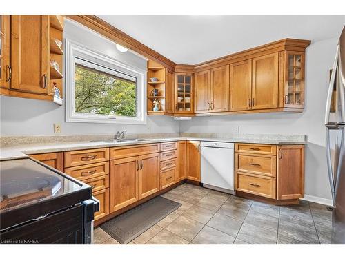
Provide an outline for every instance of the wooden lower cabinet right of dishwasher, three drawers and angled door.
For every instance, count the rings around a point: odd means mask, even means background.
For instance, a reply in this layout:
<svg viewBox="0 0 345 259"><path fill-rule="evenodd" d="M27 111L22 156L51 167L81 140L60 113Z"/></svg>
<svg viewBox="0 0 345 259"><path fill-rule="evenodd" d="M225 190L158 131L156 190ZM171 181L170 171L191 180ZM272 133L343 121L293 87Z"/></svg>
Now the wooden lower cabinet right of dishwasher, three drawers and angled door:
<svg viewBox="0 0 345 259"><path fill-rule="evenodd" d="M235 189L295 204L304 198L304 145L235 144Z"/></svg>

